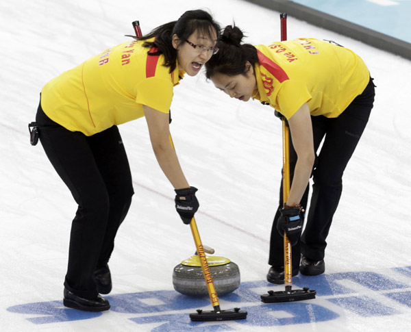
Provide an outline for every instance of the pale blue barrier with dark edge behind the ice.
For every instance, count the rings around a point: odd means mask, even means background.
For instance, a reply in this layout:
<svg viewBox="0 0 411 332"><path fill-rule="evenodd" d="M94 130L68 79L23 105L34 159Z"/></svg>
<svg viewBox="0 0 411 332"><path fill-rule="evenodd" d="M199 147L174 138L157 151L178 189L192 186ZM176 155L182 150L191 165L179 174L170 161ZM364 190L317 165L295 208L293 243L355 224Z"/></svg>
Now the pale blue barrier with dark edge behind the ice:
<svg viewBox="0 0 411 332"><path fill-rule="evenodd" d="M246 0L411 60L411 0Z"/></svg>

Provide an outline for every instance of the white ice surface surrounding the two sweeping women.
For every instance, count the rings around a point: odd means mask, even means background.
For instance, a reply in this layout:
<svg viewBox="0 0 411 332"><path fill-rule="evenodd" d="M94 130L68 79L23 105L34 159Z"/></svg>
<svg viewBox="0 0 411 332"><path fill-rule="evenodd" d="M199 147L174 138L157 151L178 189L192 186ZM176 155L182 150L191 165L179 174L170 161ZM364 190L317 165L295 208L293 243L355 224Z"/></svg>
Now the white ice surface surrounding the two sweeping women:
<svg viewBox="0 0 411 332"><path fill-rule="evenodd" d="M147 32L197 8L210 9L222 25L235 21L252 44L279 40L278 13L239 0L1 1L1 331L408 331L411 62L292 17L289 39L336 40L362 56L377 85L369 125L345 172L327 240L326 274L293 279L319 296L277 307L259 302L258 292L282 289L264 281L278 201L281 125L270 107L229 99L200 74L175 88L171 131L184 173L199 188L203 243L240 266L240 302L233 294L221 299L221 307L248 307L247 322L189 322L188 313L197 306L210 309L210 302L190 307L193 300L173 290L173 268L195 246L175 212L173 188L155 161L144 119L120 127L136 194L110 261L113 309L88 316L62 309L76 206L40 144L29 144L27 123L34 120L40 89L127 40L132 21ZM139 296L151 314L139 311ZM159 303L168 305L156 311ZM164 314L181 316L164 325Z"/></svg>

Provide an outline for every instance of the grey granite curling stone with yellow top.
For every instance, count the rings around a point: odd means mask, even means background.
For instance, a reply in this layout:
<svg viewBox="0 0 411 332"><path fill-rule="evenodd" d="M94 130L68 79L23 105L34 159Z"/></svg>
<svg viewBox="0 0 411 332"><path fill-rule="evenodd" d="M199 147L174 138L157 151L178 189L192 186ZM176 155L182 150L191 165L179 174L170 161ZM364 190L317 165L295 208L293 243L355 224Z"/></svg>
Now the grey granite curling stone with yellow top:
<svg viewBox="0 0 411 332"><path fill-rule="evenodd" d="M206 256L217 294L233 292L240 285L240 270L234 261L219 256ZM208 294L206 280L197 253L182 261L173 270L174 289L185 295Z"/></svg>

